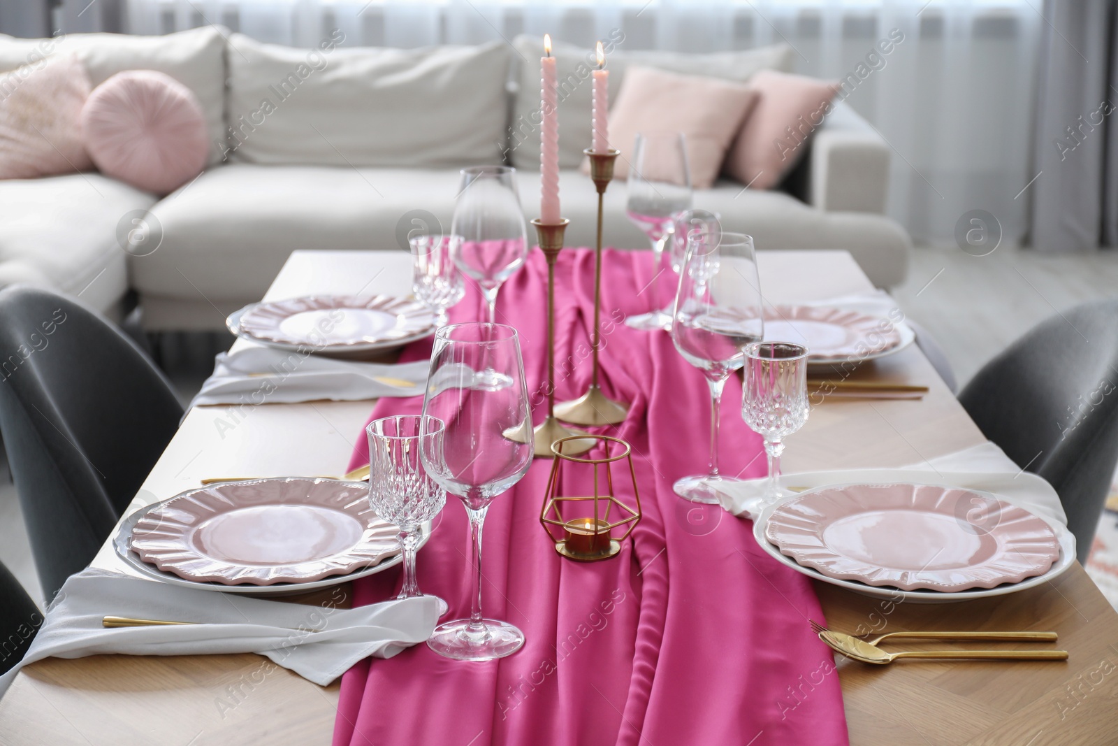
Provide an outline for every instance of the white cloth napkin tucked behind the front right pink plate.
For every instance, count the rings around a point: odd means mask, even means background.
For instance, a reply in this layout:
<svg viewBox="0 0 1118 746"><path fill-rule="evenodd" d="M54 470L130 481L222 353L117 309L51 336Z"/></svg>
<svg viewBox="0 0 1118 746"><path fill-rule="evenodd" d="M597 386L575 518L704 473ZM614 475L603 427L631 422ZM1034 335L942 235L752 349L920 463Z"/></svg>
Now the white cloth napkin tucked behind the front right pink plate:
<svg viewBox="0 0 1118 746"><path fill-rule="evenodd" d="M1038 516L1068 525L1055 489L1041 476L1022 471L1002 448L988 441L901 469L849 469L780 475L784 488L814 489L858 482L915 482L984 490ZM730 482L720 488L719 500L722 508L735 516L752 518L750 504L764 489L764 479Z"/></svg>

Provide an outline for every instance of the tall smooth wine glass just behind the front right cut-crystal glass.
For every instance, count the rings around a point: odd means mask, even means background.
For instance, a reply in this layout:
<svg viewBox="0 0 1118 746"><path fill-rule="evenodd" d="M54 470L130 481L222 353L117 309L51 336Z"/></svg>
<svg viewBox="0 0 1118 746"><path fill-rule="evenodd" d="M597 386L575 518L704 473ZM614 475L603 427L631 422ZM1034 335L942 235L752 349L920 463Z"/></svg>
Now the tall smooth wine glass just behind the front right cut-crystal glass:
<svg viewBox="0 0 1118 746"><path fill-rule="evenodd" d="M707 474L684 476L675 494L692 502L718 502L727 480L718 471L719 409L730 374L745 363L745 348L765 336L754 239L721 233L718 223L692 228L672 312L672 342L702 370L710 387L710 462Z"/></svg>

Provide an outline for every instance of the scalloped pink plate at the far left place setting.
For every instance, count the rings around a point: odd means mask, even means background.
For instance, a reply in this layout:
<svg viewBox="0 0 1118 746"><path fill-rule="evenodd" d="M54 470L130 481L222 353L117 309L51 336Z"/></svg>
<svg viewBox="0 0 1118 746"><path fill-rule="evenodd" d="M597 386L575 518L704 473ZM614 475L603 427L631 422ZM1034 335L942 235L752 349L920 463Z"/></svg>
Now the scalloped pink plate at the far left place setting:
<svg viewBox="0 0 1118 746"><path fill-rule="evenodd" d="M389 295L309 295L257 303L240 315L239 330L256 339L325 349L401 344L434 331L423 303Z"/></svg>

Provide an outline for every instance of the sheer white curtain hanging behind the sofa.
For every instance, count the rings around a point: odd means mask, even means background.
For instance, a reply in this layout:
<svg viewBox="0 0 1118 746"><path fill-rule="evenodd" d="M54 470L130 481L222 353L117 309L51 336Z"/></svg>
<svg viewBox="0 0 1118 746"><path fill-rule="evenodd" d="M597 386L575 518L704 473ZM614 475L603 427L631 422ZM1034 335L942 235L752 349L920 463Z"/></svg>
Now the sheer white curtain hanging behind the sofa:
<svg viewBox="0 0 1118 746"><path fill-rule="evenodd" d="M264 41L417 47L541 35L623 49L718 51L787 43L797 72L843 96L893 151L889 213L917 240L953 240L973 209L1003 240L1027 224L1043 19L1030 0L126 0L133 34L222 23ZM1040 0L1032 0L1039 3ZM900 40L898 40L900 39ZM879 43L892 40L889 54ZM885 46L889 46L888 44Z"/></svg>

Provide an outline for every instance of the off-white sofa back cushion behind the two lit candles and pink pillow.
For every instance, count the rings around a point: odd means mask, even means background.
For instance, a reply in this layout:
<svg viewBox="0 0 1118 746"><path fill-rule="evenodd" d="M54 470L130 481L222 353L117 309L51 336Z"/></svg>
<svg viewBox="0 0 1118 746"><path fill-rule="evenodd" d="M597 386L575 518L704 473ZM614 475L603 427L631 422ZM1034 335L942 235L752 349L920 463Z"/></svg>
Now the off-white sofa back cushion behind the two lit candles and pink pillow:
<svg viewBox="0 0 1118 746"><path fill-rule="evenodd" d="M512 112L509 149L512 164L518 169L540 169L540 57L543 39L518 36L513 47L520 63L519 86ZM594 50L563 43L552 43L552 56L559 79L559 166L578 168L582 151L590 147L591 96L590 70L594 69ZM792 72L793 50L786 44L758 47L746 51L719 51L708 55L680 51L607 49L609 70L609 100L617 100L628 65L655 67L683 75L705 75L726 81L743 82L761 69ZM522 62L521 57L527 60Z"/></svg>

